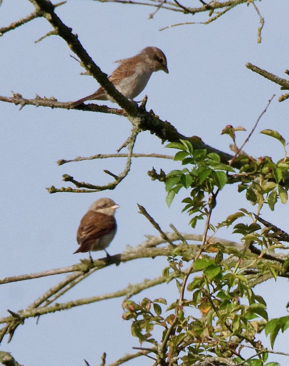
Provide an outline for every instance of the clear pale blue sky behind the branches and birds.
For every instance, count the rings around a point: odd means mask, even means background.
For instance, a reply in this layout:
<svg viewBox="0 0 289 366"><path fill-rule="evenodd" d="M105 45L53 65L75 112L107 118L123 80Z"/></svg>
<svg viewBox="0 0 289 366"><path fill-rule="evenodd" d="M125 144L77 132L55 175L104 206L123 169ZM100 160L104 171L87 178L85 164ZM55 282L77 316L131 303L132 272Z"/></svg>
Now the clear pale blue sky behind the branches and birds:
<svg viewBox="0 0 289 366"><path fill-rule="evenodd" d="M191 6L197 7L194 0ZM245 151L254 157L282 158L281 145L258 132L264 128L277 130L288 141L288 101L278 102L282 94L274 83L252 73L245 67L251 62L280 77L288 68L288 4L286 0L263 0L258 8L265 18L262 42L257 44L259 17L254 8L240 5L210 25L186 25L164 31L159 28L179 22L192 21L189 15L161 10L148 19L154 9L135 5L102 4L97 1L68 1L57 8L57 15L78 34L86 51L110 74L115 60L130 57L146 46L157 46L166 55L169 74L154 73L140 100L148 95L147 109L168 120L186 135L197 135L208 145L229 152L230 139L220 135L227 125L243 126L247 131L265 108L273 94L276 97L262 117ZM33 10L29 1L4 1L0 7L0 26L8 25ZM194 21L206 17L199 14ZM25 98L54 96L59 101L73 101L93 93L98 85L93 78L79 75L79 64L73 60L65 42L50 36L34 44L50 31L45 19L36 19L0 37L0 94L10 96L11 90ZM113 104L109 104L113 106ZM115 105L114 105L115 106ZM57 166L57 160L97 153L115 153L131 129L130 123L113 115L66 111L26 106L21 111L13 104L1 102L1 277L38 272L75 264L83 254L72 255L77 249L75 235L79 221L91 202L110 197L120 208L116 212L118 231L110 244L109 253L123 251L127 244L135 246L144 235L157 235L149 222L138 214L139 203L147 209L164 231L173 223L182 232L202 232L202 225L192 230L189 218L181 214L180 193L170 209L165 203L164 186L152 182L147 171L154 167L165 172L172 170L171 161L137 159L127 178L109 192L90 194L48 194L46 187L65 186L61 181L67 173L76 180L105 184L110 178L108 169L117 174L124 160L92 160ZM241 143L246 132L238 134ZM172 153L149 132L139 135L135 152ZM222 192L213 213L213 223L221 222L241 207L253 209L242 195L236 197L236 187ZM272 214L265 209L263 217L284 230L288 227L288 205L278 204ZM222 238L238 241L230 231L218 233ZM94 253L101 258L103 253ZM128 283L154 278L161 274L165 258L142 259L136 263L110 266L94 273L61 299L102 294L124 288ZM1 317L7 309L25 308L42 292L64 276L47 277L0 287ZM269 316L286 315L288 281L278 278L259 285L256 292L267 301ZM151 292L135 296L168 297L173 284L159 286ZM177 296L176 292L172 297ZM286 294L286 295L285 295ZM278 299L278 301L277 301ZM100 363L102 352L107 362L124 353L131 353L138 340L130 333L130 323L121 320L121 300L115 299L82 306L70 311L45 315L35 325L29 319L19 326L10 344L1 350L9 351L24 365L90 365ZM287 331L288 338L288 331ZM283 340L284 342L284 340ZM276 342L276 350L286 351L286 343ZM279 356L282 365L285 358ZM137 365L150 365L149 359L138 359Z"/></svg>

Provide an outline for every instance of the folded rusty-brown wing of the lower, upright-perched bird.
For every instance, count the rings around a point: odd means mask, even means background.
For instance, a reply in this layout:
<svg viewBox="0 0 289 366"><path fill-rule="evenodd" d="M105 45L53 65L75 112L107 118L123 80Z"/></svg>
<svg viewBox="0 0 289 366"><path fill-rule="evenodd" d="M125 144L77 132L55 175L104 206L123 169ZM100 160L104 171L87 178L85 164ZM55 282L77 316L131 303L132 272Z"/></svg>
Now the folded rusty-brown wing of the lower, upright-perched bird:
<svg viewBox="0 0 289 366"><path fill-rule="evenodd" d="M88 211L80 221L76 240L80 247L75 253L91 250L95 240L116 229L115 217L100 212Z"/></svg>

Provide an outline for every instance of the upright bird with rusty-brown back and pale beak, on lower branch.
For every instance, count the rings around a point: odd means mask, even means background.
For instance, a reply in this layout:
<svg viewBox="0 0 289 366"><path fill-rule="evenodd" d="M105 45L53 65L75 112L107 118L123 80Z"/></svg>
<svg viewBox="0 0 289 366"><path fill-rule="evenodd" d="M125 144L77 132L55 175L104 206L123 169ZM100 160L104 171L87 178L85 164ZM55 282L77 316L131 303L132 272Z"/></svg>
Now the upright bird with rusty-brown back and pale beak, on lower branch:
<svg viewBox="0 0 289 366"><path fill-rule="evenodd" d="M110 257L105 250L116 234L115 210L120 206L110 198L100 198L93 202L86 214L80 220L76 234L79 248L73 253L104 250L107 257Z"/></svg>

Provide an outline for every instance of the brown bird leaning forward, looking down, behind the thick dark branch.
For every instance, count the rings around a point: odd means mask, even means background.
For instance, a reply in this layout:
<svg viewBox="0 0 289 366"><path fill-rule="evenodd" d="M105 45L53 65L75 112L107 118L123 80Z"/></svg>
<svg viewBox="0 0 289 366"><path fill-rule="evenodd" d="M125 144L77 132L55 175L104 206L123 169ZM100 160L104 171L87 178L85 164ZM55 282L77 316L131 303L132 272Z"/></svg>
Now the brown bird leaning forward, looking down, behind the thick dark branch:
<svg viewBox="0 0 289 366"><path fill-rule="evenodd" d="M115 62L120 63L120 65L108 79L121 94L131 100L145 89L153 72L163 70L166 74L169 73L166 56L157 47L146 47L129 59ZM72 102L72 105L75 107L87 100L110 100L115 102L100 86L95 93Z"/></svg>

